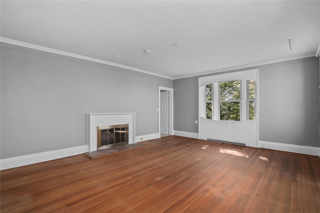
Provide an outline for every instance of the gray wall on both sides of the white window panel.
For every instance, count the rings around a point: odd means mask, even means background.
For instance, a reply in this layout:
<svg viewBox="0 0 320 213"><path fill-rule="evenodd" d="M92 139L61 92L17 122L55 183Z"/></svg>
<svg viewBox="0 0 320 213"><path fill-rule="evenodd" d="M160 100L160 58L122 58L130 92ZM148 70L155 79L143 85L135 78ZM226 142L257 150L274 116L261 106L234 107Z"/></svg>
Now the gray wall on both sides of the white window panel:
<svg viewBox="0 0 320 213"><path fill-rule="evenodd" d="M319 58L232 71L255 68L259 69L259 140L318 147ZM203 76L173 81L174 130L198 132L194 118L198 116L198 77Z"/></svg>

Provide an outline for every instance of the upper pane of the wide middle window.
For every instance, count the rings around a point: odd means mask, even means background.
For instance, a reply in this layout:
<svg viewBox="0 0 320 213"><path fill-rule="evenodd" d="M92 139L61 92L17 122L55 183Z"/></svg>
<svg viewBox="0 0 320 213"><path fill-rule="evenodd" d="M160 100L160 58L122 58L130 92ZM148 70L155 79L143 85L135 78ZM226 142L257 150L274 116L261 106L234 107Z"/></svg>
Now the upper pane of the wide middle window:
<svg viewBox="0 0 320 213"><path fill-rule="evenodd" d="M220 84L220 100L239 100L240 81L225 81Z"/></svg>

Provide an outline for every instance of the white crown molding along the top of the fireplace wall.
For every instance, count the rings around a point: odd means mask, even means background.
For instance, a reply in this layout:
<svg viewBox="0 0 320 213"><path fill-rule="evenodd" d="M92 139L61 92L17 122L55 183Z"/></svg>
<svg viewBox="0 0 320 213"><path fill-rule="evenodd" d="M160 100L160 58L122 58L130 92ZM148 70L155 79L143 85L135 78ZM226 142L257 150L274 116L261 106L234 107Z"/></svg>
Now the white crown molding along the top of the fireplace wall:
<svg viewBox="0 0 320 213"><path fill-rule="evenodd" d="M74 53L70 53L70 52L65 52L65 51L61 51L61 50L57 50L57 49L52 49L52 48L48 48L48 47L44 47L44 46L35 45L35 44L30 44L30 43L26 43L26 42L22 42L22 41L12 40L12 39L9 39L9 38L0 37L0 41L3 42L3 43L13 44L13 45L17 45L17 46L27 47L27 48L30 48L30 49L36 49L36 50L55 53L55 54L59 54L59 55L65 55L65 56L69 56L69 57L73 57L73 58L79 58L79 59L88 60L88 61L93 61L93 62L97 62L97 63L101 63L101 64L107 64L107 65L110 65L110 66L120 67L120 68L124 68L124 69L133 70L133 71L136 71L136 72L142 72L142 73L146 73L146 74L149 74L149 75L155 75L155 76L158 76L158 77L162 77L162 78L167 78L167 79L173 80L172 77L161 75L161 74L157 74L157 73L153 73L153 72L149 72L149 71L146 71L146 70L143 70L143 69L138 69L138 68L134 68L134 67L130 67L130 66L125 66L125 65L122 65L122 64L117 64L117 63L113 63L113 62L109 62L109 61L105 61L105 60L91 58L91 57L87 57L87 56L84 56L84 55L78 55L78 54L74 54Z"/></svg>

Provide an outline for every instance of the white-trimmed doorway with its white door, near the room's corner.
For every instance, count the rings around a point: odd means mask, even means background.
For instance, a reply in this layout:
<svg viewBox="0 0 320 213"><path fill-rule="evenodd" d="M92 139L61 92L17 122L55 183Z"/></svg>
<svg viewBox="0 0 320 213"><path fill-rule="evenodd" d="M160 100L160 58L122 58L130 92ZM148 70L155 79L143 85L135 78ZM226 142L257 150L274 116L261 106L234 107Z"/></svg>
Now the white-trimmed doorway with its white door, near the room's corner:
<svg viewBox="0 0 320 213"><path fill-rule="evenodd" d="M159 137L173 135L173 89L159 86Z"/></svg>

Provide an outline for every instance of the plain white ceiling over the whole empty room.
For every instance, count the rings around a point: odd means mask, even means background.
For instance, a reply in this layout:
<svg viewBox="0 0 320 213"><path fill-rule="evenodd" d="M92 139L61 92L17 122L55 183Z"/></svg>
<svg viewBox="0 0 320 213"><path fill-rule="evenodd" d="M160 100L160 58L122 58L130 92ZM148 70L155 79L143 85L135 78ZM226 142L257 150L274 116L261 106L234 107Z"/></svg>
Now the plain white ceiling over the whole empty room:
<svg viewBox="0 0 320 213"><path fill-rule="evenodd" d="M314 56L319 2L1 0L0 36L176 79Z"/></svg>

